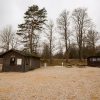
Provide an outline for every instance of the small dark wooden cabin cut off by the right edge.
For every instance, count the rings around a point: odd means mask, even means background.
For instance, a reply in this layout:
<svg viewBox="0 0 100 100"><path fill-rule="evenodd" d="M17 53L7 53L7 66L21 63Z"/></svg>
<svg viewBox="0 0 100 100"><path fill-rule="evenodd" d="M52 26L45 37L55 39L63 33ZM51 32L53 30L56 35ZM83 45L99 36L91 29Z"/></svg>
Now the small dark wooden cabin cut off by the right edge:
<svg viewBox="0 0 100 100"><path fill-rule="evenodd" d="M88 66L98 66L100 67L100 56L90 56L87 58Z"/></svg>

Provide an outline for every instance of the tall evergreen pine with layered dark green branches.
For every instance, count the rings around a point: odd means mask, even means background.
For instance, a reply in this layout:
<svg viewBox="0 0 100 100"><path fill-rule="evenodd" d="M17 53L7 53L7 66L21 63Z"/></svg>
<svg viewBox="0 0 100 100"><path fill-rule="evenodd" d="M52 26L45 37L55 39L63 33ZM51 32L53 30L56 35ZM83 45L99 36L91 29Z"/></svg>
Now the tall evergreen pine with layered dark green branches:
<svg viewBox="0 0 100 100"><path fill-rule="evenodd" d="M25 12L23 24L18 25L17 34L20 35L24 43L24 47L30 53L36 53L36 47L38 43L39 35L37 31L41 31L46 21L45 8L39 9L37 5L33 5Z"/></svg>

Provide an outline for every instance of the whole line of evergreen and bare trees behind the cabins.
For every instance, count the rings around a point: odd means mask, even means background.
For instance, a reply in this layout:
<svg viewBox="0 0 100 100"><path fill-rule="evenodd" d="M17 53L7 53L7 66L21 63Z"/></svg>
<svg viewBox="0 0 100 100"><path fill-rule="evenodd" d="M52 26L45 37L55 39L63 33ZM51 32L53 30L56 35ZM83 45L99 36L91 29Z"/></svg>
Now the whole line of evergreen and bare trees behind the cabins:
<svg viewBox="0 0 100 100"><path fill-rule="evenodd" d="M68 62L69 58L82 60L100 54L100 47L96 45L99 33L86 8L76 8L72 13L63 10L53 22L47 19L45 8L33 5L25 12L24 22L18 25L17 32L8 26L1 31L0 40L3 51L21 49L39 54L50 63L52 58Z"/></svg>

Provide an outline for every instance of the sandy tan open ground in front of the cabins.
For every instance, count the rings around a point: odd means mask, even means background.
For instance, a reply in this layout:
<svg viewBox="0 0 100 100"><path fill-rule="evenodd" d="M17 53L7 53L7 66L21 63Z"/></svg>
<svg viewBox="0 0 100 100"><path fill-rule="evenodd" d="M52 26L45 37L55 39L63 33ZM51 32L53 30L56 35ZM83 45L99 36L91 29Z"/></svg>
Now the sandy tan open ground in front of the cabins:
<svg viewBox="0 0 100 100"><path fill-rule="evenodd" d="M100 68L0 73L0 100L100 100Z"/></svg>

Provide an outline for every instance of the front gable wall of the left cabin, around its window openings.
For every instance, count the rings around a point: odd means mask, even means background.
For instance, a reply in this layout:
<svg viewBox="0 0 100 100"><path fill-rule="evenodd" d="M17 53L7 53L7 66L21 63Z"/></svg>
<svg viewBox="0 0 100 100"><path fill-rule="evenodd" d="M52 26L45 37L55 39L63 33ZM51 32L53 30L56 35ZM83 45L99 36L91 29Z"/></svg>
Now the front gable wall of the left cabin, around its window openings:
<svg viewBox="0 0 100 100"><path fill-rule="evenodd" d="M10 65L10 59L11 56L15 56L15 64L14 65ZM9 52L6 53L3 56L4 60L3 60L3 71L24 71L24 66L25 66L25 57L20 55L17 52ZM22 59L22 64L21 65L17 65L17 59Z"/></svg>

